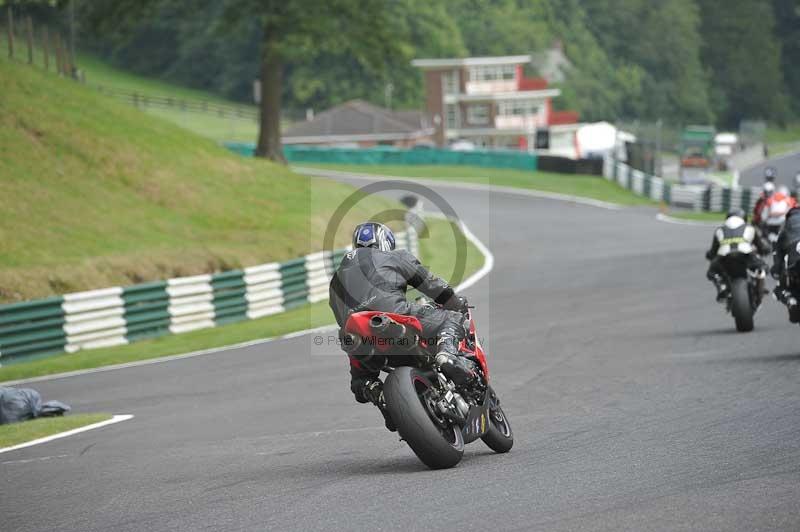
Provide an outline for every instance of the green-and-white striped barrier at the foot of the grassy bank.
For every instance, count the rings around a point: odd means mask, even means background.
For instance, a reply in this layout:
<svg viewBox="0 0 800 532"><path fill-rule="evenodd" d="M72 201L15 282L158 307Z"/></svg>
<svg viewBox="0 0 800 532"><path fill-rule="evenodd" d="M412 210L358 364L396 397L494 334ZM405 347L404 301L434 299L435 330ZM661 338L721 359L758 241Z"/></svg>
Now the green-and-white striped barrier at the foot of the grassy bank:
<svg viewBox="0 0 800 532"><path fill-rule="evenodd" d="M418 254L413 227L398 247ZM0 305L0 364L262 318L328 298L348 249L215 274Z"/></svg>

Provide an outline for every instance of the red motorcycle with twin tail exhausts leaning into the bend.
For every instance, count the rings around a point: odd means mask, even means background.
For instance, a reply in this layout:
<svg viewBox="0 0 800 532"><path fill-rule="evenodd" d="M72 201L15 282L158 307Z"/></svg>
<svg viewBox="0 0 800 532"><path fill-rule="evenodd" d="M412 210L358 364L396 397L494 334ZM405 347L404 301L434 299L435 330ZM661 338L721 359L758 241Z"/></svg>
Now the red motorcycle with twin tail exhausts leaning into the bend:
<svg viewBox="0 0 800 532"><path fill-rule="evenodd" d="M363 367L389 374L383 386L385 408L400 437L431 469L453 467L464 445L478 438L498 453L507 453L514 435L500 400L489 385L486 355L475 332L459 348L474 365L475 377L456 386L434 362L435 341L422 335L413 316L356 312L345 324L342 346Z"/></svg>

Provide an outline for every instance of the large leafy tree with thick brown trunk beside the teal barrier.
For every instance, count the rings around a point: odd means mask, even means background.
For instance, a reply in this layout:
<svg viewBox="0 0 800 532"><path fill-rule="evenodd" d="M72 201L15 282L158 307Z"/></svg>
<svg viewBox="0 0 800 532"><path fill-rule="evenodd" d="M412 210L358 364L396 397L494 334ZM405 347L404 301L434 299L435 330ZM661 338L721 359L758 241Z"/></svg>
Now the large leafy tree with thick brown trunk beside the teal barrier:
<svg viewBox="0 0 800 532"><path fill-rule="evenodd" d="M381 72L387 58L408 52L407 35L394 23L400 5L381 0L223 0L216 6L202 6L208 28L218 27L236 36L241 35L243 28L251 31L255 24L260 32L257 68L261 82L261 120L257 156L285 162L280 120L287 64L303 61L319 50L336 50L373 73ZM158 9L170 7L182 10L193 21L198 19L192 14L201 11L198 2L181 0L96 0L85 4L91 27L118 36L125 34L120 27L136 27ZM217 20L215 14L219 15ZM185 22L180 25L184 29L191 28ZM156 25L155 29L167 28ZM198 37L204 29L201 24L190 33L184 33L179 46L184 50L194 46L201 56L213 55L213 41ZM202 65L199 61L188 66L199 66L202 71Z"/></svg>

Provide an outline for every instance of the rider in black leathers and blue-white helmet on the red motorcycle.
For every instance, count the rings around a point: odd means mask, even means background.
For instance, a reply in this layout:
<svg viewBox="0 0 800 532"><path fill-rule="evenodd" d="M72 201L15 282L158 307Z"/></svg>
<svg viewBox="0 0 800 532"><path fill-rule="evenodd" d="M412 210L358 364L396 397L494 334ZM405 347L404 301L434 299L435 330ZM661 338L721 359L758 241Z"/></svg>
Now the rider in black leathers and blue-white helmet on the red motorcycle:
<svg viewBox="0 0 800 532"><path fill-rule="evenodd" d="M436 308L411 303L408 287L414 287L442 305ZM353 250L342 259L330 284L330 306L339 327L354 312L375 310L415 316L426 338L435 338L436 364L456 384L474 375L471 361L462 358L458 344L465 337L468 304L443 279L434 276L405 250L395 249L391 229L377 222L359 224L353 232ZM360 403L383 403L380 371L364 367L350 356L350 390ZM381 409L386 416L386 412ZM391 420L387 428L393 430Z"/></svg>

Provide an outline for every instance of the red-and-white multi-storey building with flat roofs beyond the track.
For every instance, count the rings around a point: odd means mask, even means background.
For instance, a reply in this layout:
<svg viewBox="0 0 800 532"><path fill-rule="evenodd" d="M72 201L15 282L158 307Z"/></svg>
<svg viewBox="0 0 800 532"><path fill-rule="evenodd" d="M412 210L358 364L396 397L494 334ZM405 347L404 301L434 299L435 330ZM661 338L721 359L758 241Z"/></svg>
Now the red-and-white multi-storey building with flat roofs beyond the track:
<svg viewBox="0 0 800 532"><path fill-rule="evenodd" d="M555 133L577 127L577 113L552 109L561 91L523 75L530 62L529 55L412 61L424 71L436 143L464 139L487 148L549 149L551 128Z"/></svg>

